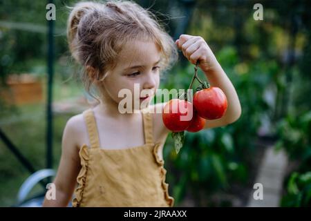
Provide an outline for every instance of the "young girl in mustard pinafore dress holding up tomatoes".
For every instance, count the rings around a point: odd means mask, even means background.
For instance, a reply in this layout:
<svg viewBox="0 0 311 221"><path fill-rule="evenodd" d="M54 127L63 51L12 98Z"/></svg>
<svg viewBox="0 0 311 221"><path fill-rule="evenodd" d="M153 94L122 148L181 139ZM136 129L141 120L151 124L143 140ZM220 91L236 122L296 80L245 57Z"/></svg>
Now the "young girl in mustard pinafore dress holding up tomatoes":
<svg viewBox="0 0 311 221"><path fill-rule="evenodd" d="M77 3L68 19L68 44L84 67L86 90L95 88L100 103L66 123L56 199L46 197L44 206L67 206L73 193L73 206L173 206L162 156L170 131L162 113L150 111L166 103L122 114L118 93L127 89L134 95L136 84L150 96L133 96L133 102L150 102L160 73L180 49L227 96L226 114L207 120L205 128L230 124L241 106L213 52L202 37L181 35L174 42L151 12L131 1Z"/></svg>

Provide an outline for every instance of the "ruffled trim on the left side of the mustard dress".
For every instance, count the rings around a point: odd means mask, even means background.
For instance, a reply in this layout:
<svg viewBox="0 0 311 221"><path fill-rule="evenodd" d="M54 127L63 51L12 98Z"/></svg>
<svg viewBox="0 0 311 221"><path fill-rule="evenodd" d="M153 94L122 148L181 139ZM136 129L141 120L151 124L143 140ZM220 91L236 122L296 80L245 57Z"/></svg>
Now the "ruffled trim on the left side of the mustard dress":
<svg viewBox="0 0 311 221"><path fill-rule="evenodd" d="M83 145L79 151L79 156L81 159L81 170L79 172L79 175L77 176L77 189L75 189L75 198L73 199L73 207L79 207L82 196L83 196L83 191L84 191L84 186L86 182L86 173L88 171L88 146Z"/></svg>

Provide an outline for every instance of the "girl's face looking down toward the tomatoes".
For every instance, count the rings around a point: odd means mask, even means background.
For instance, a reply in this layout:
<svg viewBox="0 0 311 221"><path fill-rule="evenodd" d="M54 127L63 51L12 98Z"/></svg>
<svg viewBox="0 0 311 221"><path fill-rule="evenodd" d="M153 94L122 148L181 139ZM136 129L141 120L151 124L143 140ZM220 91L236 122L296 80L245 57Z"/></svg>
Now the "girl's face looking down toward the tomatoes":
<svg viewBox="0 0 311 221"><path fill-rule="evenodd" d="M156 95L156 89L160 83L160 48L152 41L131 41L120 52L117 66L110 70L102 81L106 98L119 104L124 99L118 97L120 90L131 91L132 107L134 102L138 108L142 102L151 101ZM134 91L135 86L135 91ZM135 95L134 95L135 92ZM141 97L149 97L147 100ZM137 107L137 106L136 106Z"/></svg>

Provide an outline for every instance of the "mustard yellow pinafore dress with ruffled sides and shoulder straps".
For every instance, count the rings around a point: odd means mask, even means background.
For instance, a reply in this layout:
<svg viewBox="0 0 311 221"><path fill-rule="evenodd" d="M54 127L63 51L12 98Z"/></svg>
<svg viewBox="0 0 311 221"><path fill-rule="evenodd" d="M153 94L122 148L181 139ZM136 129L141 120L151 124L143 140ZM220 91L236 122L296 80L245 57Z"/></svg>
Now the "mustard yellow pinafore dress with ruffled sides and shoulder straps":
<svg viewBox="0 0 311 221"><path fill-rule="evenodd" d="M100 148L93 110L84 111L91 146L79 150L82 168L73 206L173 206L147 110L142 110L145 144L123 149Z"/></svg>

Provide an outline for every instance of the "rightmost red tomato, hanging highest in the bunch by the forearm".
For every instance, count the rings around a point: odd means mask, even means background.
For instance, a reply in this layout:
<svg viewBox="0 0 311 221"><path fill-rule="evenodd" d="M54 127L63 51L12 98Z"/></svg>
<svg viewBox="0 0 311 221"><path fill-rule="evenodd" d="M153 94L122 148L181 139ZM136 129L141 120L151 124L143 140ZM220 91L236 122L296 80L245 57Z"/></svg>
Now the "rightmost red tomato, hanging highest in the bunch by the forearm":
<svg viewBox="0 0 311 221"><path fill-rule="evenodd" d="M227 97L220 88L205 88L194 94L194 107L198 111L200 117L205 119L218 119L225 115L227 110Z"/></svg>

